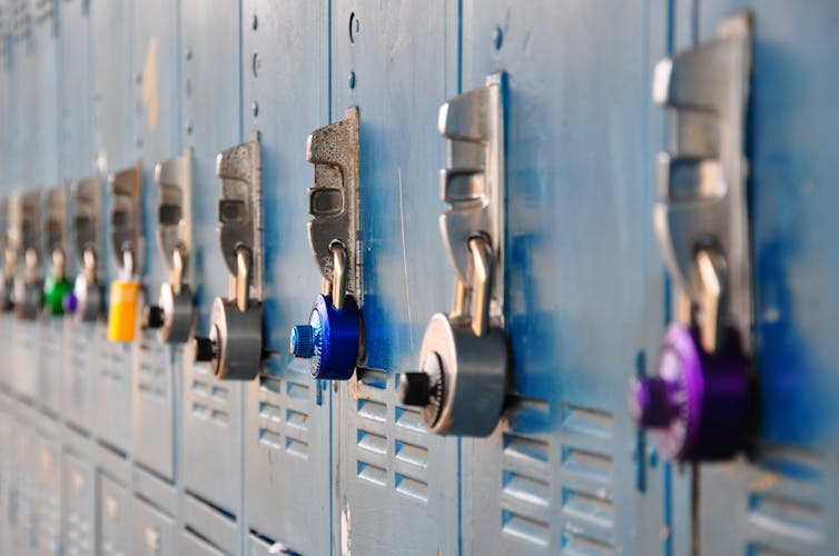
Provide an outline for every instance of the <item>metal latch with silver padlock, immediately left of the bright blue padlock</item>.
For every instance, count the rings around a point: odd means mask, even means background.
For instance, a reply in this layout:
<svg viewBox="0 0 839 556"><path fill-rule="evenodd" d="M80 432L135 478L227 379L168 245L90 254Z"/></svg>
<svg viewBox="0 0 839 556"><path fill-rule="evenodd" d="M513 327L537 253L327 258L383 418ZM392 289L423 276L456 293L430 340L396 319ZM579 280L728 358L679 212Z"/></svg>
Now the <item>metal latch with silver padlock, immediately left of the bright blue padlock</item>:
<svg viewBox="0 0 839 556"><path fill-rule="evenodd" d="M229 299L213 301L208 337L195 338L195 359L210 363L216 377L250 380L263 363L261 161L259 136L221 151L218 240L230 272Z"/></svg>

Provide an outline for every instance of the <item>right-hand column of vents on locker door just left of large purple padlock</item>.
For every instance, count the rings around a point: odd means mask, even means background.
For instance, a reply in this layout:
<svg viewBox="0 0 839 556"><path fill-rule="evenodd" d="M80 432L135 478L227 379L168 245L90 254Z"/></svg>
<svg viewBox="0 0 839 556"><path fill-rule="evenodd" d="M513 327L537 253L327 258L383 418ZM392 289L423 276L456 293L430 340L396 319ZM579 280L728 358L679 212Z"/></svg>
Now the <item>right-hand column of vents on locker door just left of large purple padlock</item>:
<svg viewBox="0 0 839 556"><path fill-rule="evenodd" d="M560 447L562 547L567 554L616 554L614 416L565 401Z"/></svg>

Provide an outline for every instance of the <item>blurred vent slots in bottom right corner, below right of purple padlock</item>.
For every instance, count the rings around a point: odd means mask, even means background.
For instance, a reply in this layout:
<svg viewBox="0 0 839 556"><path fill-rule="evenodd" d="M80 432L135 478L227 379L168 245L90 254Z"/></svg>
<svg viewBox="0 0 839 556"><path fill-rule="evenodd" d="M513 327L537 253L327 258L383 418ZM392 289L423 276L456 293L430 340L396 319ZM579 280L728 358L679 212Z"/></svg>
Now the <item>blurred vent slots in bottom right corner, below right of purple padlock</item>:
<svg viewBox="0 0 839 556"><path fill-rule="evenodd" d="M747 554L819 554L825 546L820 456L767 447L749 484Z"/></svg>

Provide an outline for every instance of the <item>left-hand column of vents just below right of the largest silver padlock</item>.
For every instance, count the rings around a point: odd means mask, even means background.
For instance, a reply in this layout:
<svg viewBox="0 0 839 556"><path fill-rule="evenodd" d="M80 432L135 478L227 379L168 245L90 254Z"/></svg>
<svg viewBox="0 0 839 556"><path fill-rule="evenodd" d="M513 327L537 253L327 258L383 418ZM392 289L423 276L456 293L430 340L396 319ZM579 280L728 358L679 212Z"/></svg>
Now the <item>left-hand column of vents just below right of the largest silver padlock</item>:
<svg viewBox="0 0 839 556"><path fill-rule="evenodd" d="M501 528L505 535L547 546L551 530L550 407L519 398L503 423Z"/></svg>

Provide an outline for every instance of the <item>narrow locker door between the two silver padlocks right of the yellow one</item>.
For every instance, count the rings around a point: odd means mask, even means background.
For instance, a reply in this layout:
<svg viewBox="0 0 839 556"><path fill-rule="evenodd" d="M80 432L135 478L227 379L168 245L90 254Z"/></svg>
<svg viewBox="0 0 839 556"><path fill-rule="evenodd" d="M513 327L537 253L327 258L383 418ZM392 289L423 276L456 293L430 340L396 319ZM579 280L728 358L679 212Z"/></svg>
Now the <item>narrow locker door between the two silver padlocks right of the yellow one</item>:
<svg viewBox="0 0 839 556"><path fill-rule="evenodd" d="M221 186L216 155L241 139L239 4L185 1L180 18L182 73L179 82L184 123L179 133L193 148L193 248L198 306L198 334L209 326L216 295L227 294L227 267L218 248ZM241 399L244 386L217 380L206 365L182 360L185 487L235 516L241 515ZM213 457L207 457L209 454ZM206 533L205 533L206 534Z"/></svg>

